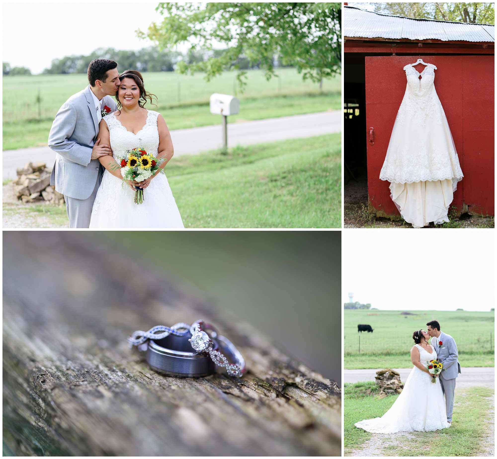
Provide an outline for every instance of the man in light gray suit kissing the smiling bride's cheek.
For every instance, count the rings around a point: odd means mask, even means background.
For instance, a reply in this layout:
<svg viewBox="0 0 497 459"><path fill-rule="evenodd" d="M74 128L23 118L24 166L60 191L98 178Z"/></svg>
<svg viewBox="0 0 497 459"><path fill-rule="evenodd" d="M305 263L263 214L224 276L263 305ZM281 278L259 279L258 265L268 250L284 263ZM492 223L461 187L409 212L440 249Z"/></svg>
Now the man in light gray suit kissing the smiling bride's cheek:
<svg viewBox="0 0 497 459"><path fill-rule="evenodd" d="M97 139L102 114L116 110L110 96L119 86L117 63L94 59L88 66L89 84L71 96L55 115L48 146L57 153L50 184L64 195L71 228L88 228L103 167L98 158L112 154Z"/></svg>

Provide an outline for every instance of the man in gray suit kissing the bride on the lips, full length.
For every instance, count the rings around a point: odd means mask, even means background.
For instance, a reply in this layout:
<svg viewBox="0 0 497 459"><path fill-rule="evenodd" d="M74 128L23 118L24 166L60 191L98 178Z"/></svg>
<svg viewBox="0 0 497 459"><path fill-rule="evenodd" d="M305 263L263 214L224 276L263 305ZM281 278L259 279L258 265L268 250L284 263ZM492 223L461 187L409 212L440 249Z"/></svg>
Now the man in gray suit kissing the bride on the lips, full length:
<svg viewBox="0 0 497 459"><path fill-rule="evenodd" d="M461 373L461 366L457 360L457 345L452 336L440 331L440 324L437 320L431 320L426 325L428 326L428 335L431 336L431 345L437 353L437 359L443 364L442 373L440 373L438 378L442 385L442 391L445 394L447 422L452 423L454 389L456 388L456 378Z"/></svg>

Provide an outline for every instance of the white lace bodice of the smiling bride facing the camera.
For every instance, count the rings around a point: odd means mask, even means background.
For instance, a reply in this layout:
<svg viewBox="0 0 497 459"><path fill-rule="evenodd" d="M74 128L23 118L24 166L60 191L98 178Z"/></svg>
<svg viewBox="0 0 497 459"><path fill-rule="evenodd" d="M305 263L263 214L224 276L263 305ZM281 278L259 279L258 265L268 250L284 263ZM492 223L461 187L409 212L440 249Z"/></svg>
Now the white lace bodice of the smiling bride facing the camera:
<svg viewBox="0 0 497 459"><path fill-rule="evenodd" d="M128 131L115 117L114 113L107 115L104 120L107 123L110 134L110 147L115 156L119 156L137 147L142 147L147 153L157 154L159 148L159 131L157 130L158 112L147 110L147 121L145 126L134 134Z"/></svg>

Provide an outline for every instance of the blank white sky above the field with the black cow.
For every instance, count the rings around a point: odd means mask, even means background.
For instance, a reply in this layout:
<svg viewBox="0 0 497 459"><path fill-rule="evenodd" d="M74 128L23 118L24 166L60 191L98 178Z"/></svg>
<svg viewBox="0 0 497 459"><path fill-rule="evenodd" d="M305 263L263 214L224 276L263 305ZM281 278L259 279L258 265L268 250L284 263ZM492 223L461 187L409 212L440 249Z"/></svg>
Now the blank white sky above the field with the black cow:
<svg viewBox="0 0 497 459"><path fill-rule="evenodd" d="M494 230L342 231L342 303L348 292L384 310L488 311Z"/></svg>

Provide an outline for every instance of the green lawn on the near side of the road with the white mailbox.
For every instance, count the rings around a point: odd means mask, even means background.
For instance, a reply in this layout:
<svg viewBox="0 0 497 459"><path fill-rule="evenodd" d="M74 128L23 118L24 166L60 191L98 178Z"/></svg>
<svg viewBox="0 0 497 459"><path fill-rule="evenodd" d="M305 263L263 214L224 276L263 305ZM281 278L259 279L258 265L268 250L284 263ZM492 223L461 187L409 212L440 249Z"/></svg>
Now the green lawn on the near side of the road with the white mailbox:
<svg viewBox="0 0 497 459"><path fill-rule="evenodd" d="M338 228L340 164L331 134L173 157L166 176L185 228ZM19 207L4 204L4 216Z"/></svg>

